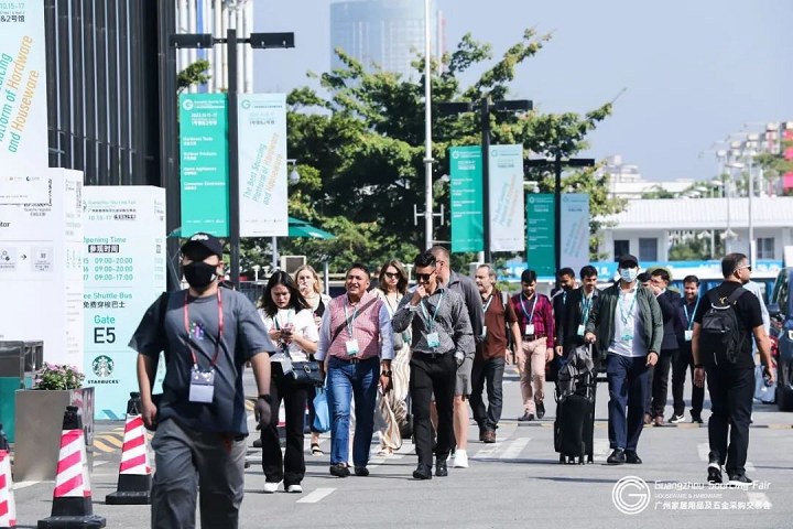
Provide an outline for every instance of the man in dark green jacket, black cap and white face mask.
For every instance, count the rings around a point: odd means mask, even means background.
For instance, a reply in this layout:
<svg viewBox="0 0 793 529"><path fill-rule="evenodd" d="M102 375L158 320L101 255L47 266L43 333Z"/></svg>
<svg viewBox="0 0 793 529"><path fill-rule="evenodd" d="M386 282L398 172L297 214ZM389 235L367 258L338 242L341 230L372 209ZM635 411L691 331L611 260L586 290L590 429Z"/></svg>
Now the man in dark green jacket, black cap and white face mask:
<svg viewBox="0 0 793 529"><path fill-rule="evenodd" d="M619 258L620 280L604 290L589 311L585 339L597 342L609 385L610 465L641 464L637 453L644 425L649 375L663 339L663 316L655 294L637 282L639 260ZM627 409L627 412L626 412Z"/></svg>

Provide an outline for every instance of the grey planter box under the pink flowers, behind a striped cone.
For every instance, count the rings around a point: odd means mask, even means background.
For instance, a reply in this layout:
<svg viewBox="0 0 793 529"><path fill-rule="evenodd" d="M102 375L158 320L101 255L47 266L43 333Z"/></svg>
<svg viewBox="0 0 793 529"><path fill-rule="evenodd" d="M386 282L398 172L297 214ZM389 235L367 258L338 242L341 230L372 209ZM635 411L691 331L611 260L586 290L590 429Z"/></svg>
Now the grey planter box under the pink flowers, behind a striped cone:
<svg viewBox="0 0 793 529"><path fill-rule="evenodd" d="M63 418L76 406L83 419L89 461L94 443L94 388L19 390L15 408L15 482L55 481Z"/></svg>

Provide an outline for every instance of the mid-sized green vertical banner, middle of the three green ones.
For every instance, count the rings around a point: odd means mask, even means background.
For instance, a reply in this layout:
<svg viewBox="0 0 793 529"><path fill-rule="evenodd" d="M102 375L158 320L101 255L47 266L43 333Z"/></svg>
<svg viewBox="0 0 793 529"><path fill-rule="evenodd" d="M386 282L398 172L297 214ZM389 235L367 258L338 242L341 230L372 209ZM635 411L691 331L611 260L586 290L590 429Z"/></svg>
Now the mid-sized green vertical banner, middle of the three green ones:
<svg viewBox="0 0 793 529"><path fill-rule="evenodd" d="M449 149L452 251L482 251L482 155L479 145Z"/></svg>

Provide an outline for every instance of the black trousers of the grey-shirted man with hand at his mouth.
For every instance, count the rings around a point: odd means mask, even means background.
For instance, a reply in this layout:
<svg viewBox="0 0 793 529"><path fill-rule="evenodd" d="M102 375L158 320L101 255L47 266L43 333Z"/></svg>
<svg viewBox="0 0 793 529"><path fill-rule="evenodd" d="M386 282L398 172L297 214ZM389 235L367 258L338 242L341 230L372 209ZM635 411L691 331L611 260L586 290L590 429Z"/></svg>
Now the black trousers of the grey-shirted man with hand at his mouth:
<svg viewBox="0 0 793 529"><path fill-rule="evenodd" d="M432 466L433 439L430 422L430 404L435 396L438 414L435 457L446 461L452 447L457 444L454 436L454 392L457 381L457 363L452 352L431 355L414 352L410 363L410 392L413 401L413 434L416 442L419 463Z"/></svg>

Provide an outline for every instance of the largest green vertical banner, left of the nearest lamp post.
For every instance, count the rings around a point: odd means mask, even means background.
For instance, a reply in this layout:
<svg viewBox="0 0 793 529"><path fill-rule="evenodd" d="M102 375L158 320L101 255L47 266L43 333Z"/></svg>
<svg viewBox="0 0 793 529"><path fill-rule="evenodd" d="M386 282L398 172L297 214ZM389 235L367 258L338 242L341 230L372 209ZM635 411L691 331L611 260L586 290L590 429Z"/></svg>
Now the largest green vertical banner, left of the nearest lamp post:
<svg viewBox="0 0 793 529"><path fill-rule="evenodd" d="M180 95L182 235L229 235L226 94Z"/></svg>

